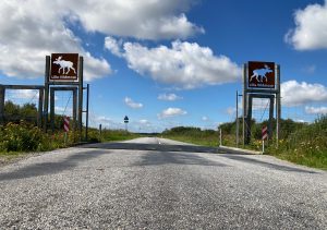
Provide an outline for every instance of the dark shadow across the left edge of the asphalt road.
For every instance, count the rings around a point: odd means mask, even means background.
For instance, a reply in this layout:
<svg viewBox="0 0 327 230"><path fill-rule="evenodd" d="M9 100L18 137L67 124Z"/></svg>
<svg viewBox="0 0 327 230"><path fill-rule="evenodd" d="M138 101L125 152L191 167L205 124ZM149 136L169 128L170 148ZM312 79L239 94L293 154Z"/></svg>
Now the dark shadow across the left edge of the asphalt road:
<svg viewBox="0 0 327 230"><path fill-rule="evenodd" d="M20 168L13 172L0 173L0 181L34 178L39 175L56 174L77 166L78 162L96 158L104 153L87 152L71 155L58 162L39 162ZM106 153L108 154L108 153Z"/></svg>

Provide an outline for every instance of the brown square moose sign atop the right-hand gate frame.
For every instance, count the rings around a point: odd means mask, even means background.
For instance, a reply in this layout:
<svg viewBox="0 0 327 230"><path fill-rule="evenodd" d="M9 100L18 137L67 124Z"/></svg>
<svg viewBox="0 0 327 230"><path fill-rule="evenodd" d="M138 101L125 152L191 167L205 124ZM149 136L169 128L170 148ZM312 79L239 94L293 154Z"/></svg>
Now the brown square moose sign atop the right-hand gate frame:
<svg viewBox="0 0 327 230"><path fill-rule="evenodd" d="M247 86L275 88L275 62L249 61Z"/></svg>

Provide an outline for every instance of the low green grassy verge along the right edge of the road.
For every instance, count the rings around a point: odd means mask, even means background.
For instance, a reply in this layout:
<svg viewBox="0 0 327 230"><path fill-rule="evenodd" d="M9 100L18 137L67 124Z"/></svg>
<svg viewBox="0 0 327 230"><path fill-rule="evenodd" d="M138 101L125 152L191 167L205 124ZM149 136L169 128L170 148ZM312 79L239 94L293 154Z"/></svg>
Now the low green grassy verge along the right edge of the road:
<svg viewBox="0 0 327 230"><path fill-rule="evenodd" d="M218 145L217 132L201 131L195 128L174 128L164 132L164 136L204 146ZM222 145L235 147L234 134L223 134ZM327 117L322 117L314 123L302 125L280 140L278 145L279 147L276 148L276 140L269 141L265 154L298 165L327 170ZM246 145L245 148L262 150L262 141L253 137L251 144Z"/></svg>

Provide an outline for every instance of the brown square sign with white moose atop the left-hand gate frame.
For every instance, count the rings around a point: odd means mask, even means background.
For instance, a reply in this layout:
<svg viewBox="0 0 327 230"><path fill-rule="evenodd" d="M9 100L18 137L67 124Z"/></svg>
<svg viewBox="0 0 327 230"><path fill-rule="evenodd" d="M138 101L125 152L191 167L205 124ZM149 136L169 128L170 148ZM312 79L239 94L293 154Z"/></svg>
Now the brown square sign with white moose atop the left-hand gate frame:
<svg viewBox="0 0 327 230"><path fill-rule="evenodd" d="M51 81L77 80L78 53L51 55Z"/></svg>

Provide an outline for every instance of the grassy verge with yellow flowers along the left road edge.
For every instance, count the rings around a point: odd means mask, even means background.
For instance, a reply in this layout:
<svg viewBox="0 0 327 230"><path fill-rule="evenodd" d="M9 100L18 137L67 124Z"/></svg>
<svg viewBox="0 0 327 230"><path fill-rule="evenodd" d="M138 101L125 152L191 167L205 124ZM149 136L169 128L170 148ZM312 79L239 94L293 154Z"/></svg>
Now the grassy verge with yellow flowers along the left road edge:
<svg viewBox="0 0 327 230"><path fill-rule="evenodd" d="M101 135L96 129L89 129L88 142L117 142L141 136L122 130L104 130ZM8 123L0 126L0 165L15 161L41 152L53 150L75 145L80 135L69 132L43 133L33 124Z"/></svg>

